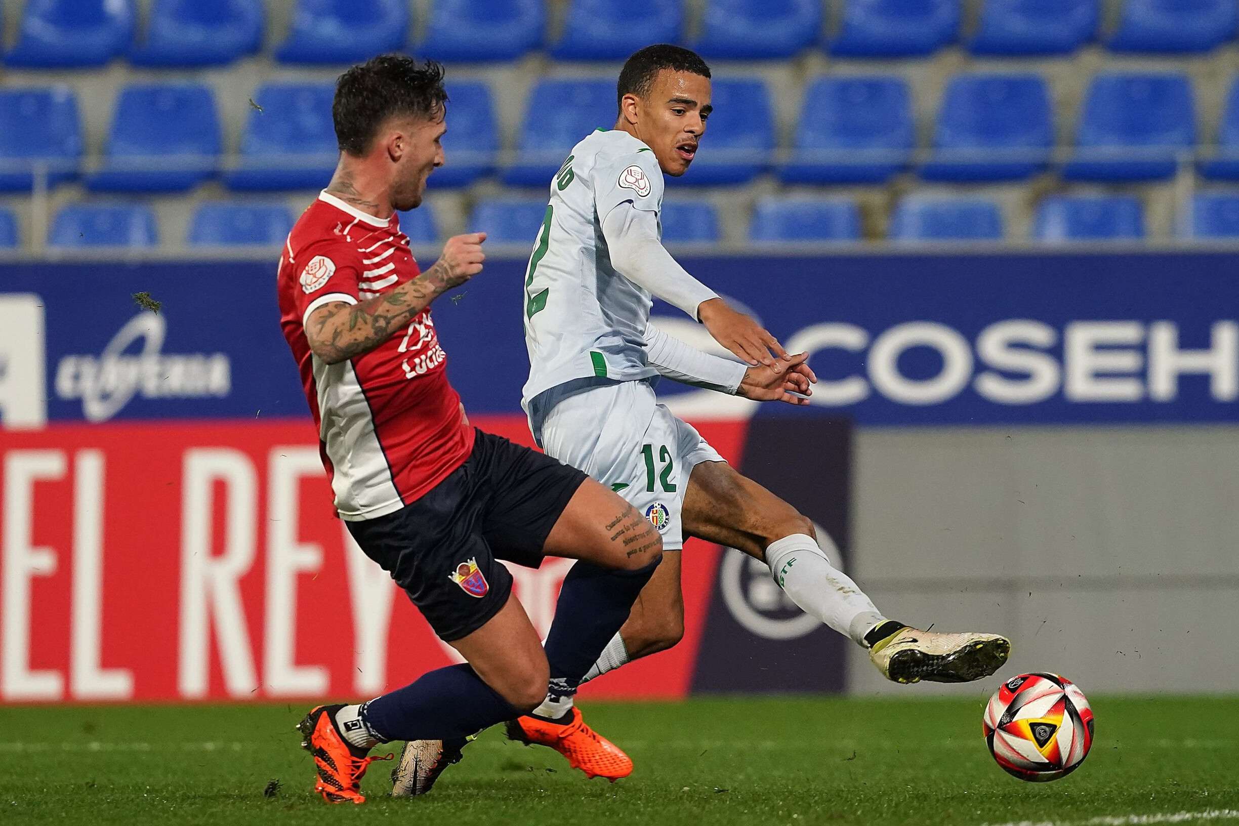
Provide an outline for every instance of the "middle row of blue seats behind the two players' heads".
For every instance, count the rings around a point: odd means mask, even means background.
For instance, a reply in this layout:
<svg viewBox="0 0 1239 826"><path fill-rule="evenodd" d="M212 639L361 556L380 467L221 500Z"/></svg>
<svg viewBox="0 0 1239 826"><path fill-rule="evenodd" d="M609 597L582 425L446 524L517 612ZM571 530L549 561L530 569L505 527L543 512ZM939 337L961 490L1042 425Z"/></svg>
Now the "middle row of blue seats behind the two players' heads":
<svg viewBox="0 0 1239 826"><path fill-rule="evenodd" d="M450 163L431 186L461 187L497 168L499 137L489 87L450 82ZM255 93L240 163L223 171L234 191L316 188L331 177L336 137L330 84L265 83ZM804 93L794 147L776 162L766 84L720 78L710 135L686 176L672 186L727 186L774 168L784 183L882 183L913 166L916 128L904 79L821 77ZM530 92L509 186L544 187L582 136L615 120L610 80L543 79ZM960 74L938 110L933 151L917 163L928 181L1018 181L1053 165L1073 181L1170 177L1197 145L1192 84L1177 73L1110 73L1092 79L1075 146L1054 154L1051 95L1040 74ZM223 137L213 92L195 83L135 84L116 102L94 192L176 192L221 171ZM53 165L51 182L79 168L77 102L63 87L0 90L0 191L31 187L30 163ZM1239 178L1239 79L1232 85L1209 178Z"/></svg>

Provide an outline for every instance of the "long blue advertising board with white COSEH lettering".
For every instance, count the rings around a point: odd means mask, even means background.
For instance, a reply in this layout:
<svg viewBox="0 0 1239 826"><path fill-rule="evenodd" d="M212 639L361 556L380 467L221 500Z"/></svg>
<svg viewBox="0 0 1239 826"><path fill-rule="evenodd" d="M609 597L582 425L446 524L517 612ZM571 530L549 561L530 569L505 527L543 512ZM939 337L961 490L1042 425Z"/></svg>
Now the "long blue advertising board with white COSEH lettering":
<svg viewBox="0 0 1239 826"><path fill-rule="evenodd" d="M812 350L820 379L814 405L799 410L663 383L659 393L685 415L828 414L860 426L1239 419L1233 254L684 264L789 349ZM523 261L489 263L435 305L452 383L471 411L519 411L523 274ZM274 280L274 261L0 267L0 419L35 424L33 396L51 421L307 415ZM161 302L157 315L135 303L140 291ZM659 305L655 317L710 346L678 311ZM38 359L42 369L26 369Z"/></svg>

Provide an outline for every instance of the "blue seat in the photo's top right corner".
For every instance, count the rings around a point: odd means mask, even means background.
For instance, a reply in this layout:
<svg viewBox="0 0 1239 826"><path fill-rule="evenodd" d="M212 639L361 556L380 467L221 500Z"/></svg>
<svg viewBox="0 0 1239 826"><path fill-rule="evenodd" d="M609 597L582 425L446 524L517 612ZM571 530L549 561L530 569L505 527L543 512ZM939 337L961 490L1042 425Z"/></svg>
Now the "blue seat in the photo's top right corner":
<svg viewBox="0 0 1239 826"><path fill-rule="evenodd" d="M1126 0L1113 52L1208 52L1235 36L1233 0Z"/></svg>

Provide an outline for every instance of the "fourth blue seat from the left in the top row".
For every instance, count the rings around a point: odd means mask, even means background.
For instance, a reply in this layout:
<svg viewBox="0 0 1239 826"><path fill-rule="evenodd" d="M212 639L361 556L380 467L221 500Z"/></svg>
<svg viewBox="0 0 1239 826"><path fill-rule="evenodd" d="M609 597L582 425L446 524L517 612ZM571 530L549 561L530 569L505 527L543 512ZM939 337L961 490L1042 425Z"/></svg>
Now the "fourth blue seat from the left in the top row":
<svg viewBox="0 0 1239 826"><path fill-rule="evenodd" d="M414 51L434 61L514 61L543 42L543 0L434 0L426 40Z"/></svg>

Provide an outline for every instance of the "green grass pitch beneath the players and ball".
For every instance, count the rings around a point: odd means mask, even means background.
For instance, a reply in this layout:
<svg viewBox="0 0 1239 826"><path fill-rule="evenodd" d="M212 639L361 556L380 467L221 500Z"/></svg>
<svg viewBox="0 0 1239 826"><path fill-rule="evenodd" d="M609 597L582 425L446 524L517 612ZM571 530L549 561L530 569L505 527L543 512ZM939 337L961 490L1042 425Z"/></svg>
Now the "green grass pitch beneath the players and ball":
<svg viewBox="0 0 1239 826"><path fill-rule="evenodd" d="M304 703L0 707L0 824L1239 820L1239 698L1094 698L1093 753L1049 784L994 764L984 700L590 702L587 719L636 760L631 778L585 780L494 728L421 799L387 798L392 764L373 764L364 806L311 794L292 729Z"/></svg>

